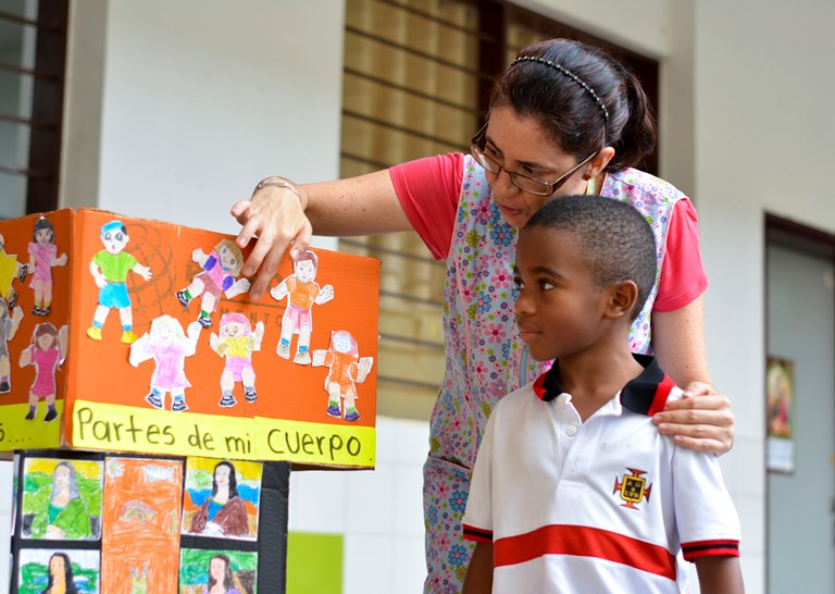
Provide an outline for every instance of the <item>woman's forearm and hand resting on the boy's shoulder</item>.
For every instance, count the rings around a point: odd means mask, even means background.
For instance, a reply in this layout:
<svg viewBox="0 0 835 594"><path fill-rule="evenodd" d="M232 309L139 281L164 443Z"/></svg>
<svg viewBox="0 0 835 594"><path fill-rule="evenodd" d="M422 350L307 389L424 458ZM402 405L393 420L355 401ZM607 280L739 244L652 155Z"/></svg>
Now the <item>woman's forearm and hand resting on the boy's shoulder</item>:
<svg viewBox="0 0 835 594"><path fill-rule="evenodd" d="M710 383L703 297L674 311L653 312L652 344L661 369L685 388L684 398L653 417L659 432L673 435L676 444L690 449L716 454L731 449L734 414L731 400Z"/></svg>

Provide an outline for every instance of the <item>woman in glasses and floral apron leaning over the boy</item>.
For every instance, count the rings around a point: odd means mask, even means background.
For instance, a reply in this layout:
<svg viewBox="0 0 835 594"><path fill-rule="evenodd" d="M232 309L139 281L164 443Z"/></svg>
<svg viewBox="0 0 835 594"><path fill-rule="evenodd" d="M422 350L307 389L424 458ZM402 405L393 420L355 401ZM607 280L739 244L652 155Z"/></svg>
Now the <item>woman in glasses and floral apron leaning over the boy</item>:
<svg viewBox="0 0 835 594"><path fill-rule="evenodd" d="M597 48L551 39L523 49L497 79L472 154L300 187L270 177L232 208L244 225L238 245L259 238L242 271L258 270L254 299L288 245L297 258L312 230L414 230L436 258L447 260L446 373L424 467L427 590L461 587L471 547L461 539L460 520L491 405L544 370L529 364L516 333L511 265L515 230L548 200L600 194L628 201L652 222L660 281L633 326L631 346L655 350L677 384L701 395L670 405L656 422L683 446L730 448L730 403L710 385L707 370L707 281L695 212L677 189L631 169L653 146L655 123L634 75Z"/></svg>

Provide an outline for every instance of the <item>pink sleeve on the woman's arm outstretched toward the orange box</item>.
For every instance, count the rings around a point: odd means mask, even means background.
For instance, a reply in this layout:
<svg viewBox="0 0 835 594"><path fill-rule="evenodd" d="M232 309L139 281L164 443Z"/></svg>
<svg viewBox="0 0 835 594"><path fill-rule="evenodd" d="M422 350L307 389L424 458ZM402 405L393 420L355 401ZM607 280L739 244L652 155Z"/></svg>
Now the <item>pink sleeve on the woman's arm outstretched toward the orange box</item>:
<svg viewBox="0 0 835 594"><path fill-rule="evenodd" d="M436 260L446 260L464 178L464 156L426 157L395 165L389 173L414 231Z"/></svg>

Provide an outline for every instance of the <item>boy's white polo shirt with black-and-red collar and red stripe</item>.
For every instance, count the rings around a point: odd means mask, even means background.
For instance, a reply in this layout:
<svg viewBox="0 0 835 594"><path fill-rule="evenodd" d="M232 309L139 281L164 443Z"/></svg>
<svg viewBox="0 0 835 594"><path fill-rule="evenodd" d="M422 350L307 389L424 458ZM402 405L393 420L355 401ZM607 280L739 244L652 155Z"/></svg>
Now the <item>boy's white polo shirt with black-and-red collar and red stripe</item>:
<svg viewBox="0 0 835 594"><path fill-rule="evenodd" d="M502 398L473 469L464 536L494 544L494 593L685 592L684 558L739 555L715 456L651 416L682 391L651 357L582 422L559 364Z"/></svg>

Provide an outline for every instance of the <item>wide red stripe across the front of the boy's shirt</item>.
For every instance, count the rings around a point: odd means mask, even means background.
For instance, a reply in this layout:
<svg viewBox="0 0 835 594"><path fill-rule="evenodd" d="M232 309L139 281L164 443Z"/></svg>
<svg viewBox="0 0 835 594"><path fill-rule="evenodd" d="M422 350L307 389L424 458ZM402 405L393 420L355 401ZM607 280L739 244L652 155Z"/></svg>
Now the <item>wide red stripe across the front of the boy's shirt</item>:
<svg viewBox="0 0 835 594"><path fill-rule="evenodd" d="M596 557L675 580L675 556L653 545L616 532L570 524L551 524L496 541L494 567L515 565L544 555Z"/></svg>

